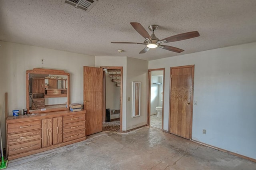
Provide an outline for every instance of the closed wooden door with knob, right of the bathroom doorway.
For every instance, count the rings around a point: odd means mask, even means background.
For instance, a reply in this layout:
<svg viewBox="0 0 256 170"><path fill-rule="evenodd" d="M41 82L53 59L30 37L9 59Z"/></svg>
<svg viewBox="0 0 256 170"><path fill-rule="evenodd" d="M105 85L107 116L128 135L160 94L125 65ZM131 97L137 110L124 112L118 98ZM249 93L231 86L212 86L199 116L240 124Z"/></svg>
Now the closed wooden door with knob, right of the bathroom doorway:
<svg viewBox="0 0 256 170"><path fill-rule="evenodd" d="M170 87L170 133L192 137L194 65L172 67Z"/></svg>

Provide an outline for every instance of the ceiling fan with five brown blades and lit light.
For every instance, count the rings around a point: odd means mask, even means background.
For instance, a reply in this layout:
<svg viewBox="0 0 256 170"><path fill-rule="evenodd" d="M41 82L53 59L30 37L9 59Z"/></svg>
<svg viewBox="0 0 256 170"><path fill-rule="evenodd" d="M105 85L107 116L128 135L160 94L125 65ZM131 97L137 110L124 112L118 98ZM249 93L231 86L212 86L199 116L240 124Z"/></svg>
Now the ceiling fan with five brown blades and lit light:
<svg viewBox="0 0 256 170"><path fill-rule="evenodd" d="M180 48L177 48L177 47L172 47L172 46L169 46L169 45L163 45L163 43L187 40L187 39L190 39L190 38L195 38L195 37L200 36L197 31L192 31L192 32L177 34L175 36L170 36L170 37L167 37L167 38L164 38L164 39L160 40L154 34L154 32L158 29L158 25L150 25L148 27L149 30L152 31L152 34L150 36L148 34L148 32L143 28L143 26L140 25L140 23L130 22L130 24L146 40L143 43L136 43L136 42L111 42L111 43L130 43L130 44L146 45L146 47L140 51L140 54L141 53L146 53L148 50L150 50L150 48L156 48L156 47L160 47L162 49L166 49L166 50L173 51L173 52L176 52L176 53L181 53L182 51L184 51L183 49L180 49Z"/></svg>

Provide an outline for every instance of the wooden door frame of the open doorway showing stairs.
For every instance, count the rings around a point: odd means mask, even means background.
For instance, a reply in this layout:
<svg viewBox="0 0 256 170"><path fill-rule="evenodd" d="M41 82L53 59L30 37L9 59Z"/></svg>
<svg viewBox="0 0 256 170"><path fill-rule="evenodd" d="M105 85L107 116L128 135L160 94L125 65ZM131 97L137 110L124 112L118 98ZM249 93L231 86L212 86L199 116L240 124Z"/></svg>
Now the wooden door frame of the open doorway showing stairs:
<svg viewBox="0 0 256 170"><path fill-rule="evenodd" d="M123 132L122 129L122 117L123 117L123 67L112 67L112 66L100 66L100 68L102 69L120 69L121 70L121 87L120 87L120 132ZM103 74L105 73L105 71L103 71ZM104 76L104 75L103 75ZM105 76L104 76L105 77ZM103 81L103 88L106 86L106 81ZM103 89L103 117L106 117L104 115L106 115L106 91L105 89Z"/></svg>

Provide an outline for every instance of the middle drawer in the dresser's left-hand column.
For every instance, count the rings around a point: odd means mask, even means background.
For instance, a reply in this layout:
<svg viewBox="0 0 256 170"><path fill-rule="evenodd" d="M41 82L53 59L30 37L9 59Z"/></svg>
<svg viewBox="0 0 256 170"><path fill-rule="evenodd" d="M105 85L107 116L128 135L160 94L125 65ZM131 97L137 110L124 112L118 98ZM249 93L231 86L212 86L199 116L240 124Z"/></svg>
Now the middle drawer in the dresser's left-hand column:
<svg viewBox="0 0 256 170"><path fill-rule="evenodd" d="M16 144L30 140L40 139L41 129L16 134L8 134L8 144Z"/></svg>

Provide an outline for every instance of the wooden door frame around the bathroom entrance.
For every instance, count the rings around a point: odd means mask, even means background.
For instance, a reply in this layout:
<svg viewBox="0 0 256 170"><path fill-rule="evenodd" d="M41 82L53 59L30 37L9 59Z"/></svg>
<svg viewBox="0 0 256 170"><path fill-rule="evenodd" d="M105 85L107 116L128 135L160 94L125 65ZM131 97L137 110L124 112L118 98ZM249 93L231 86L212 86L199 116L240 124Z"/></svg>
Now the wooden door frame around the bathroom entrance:
<svg viewBox="0 0 256 170"><path fill-rule="evenodd" d="M164 127L164 73L165 68L159 68L159 69L149 69L148 70L148 123L147 125L150 126L150 99L151 99L151 72L152 71L163 71L163 103L162 103L162 130Z"/></svg>

